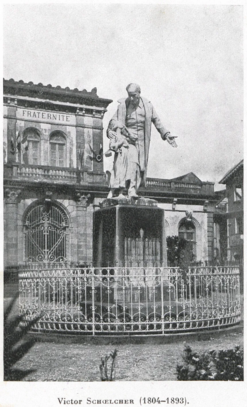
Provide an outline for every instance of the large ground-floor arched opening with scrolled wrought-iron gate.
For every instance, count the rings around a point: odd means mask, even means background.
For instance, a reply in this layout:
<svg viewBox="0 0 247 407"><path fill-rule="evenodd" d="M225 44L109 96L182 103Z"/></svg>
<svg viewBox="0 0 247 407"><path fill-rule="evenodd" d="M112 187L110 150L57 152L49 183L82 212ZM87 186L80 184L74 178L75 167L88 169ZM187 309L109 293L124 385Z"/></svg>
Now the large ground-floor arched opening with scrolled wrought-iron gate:
<svg viewBox="0 0 247 407"><path fill-rule="evenodd" d="M25 260L67 260L68 226L67 215L58 205L49 201L32 206L24 219Z"/></svg>

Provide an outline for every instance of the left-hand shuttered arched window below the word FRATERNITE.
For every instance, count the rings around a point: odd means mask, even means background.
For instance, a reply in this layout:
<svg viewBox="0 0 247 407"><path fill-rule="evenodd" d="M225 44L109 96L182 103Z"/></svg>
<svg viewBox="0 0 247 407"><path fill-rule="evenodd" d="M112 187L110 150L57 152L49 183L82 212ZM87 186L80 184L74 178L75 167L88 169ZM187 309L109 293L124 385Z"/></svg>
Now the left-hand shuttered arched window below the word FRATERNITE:
<svg viewBox="0 0 247 407"><path fill-rule="evenodd" d="M28 128L24 131L24 154L26 153L28 164L40 164L40 137L39 132L34 128Z"/></svg>

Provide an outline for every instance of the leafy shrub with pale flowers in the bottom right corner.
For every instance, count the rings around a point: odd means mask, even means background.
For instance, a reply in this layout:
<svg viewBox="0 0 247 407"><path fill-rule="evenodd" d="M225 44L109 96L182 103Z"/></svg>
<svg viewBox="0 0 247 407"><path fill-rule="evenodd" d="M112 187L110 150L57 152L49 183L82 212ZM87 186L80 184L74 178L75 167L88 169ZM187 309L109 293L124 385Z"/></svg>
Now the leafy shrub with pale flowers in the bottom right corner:
<svg viewBox="0 0 247 407"><path fill-rule="evenodd" d="M199 354L184 348L184 365L177 365L178 380L243 381L243 348L210 350Z"/></svg>

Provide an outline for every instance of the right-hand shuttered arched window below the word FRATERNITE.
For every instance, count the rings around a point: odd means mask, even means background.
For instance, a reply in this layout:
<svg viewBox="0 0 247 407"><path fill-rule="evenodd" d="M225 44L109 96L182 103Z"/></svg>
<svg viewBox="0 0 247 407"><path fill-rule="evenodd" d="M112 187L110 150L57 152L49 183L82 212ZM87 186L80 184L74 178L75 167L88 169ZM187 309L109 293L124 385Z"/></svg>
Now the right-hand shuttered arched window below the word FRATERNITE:
<svg viewBox="0 0 247 407"><path fill-rule="evenodd" d="M66 139L61 131L54 131L50 136L50 165L66 167Z"/></svg>

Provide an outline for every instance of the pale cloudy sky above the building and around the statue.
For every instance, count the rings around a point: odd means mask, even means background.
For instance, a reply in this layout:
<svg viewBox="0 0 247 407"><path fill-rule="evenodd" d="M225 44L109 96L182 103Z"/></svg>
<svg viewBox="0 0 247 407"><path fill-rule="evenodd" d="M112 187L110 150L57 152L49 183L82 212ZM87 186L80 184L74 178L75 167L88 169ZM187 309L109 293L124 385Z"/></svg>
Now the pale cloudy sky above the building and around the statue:
<svg viewBox="0 0 247 407"><path fill-rule="evenodd" d="M243 158L243 7L5 4L3 76L113 100L138 83L172 148L152 129L148 177L219 182ZM111 171L113 158L104 158ZM215 189L222 188L219 184Z"/></svg>

